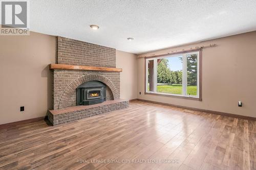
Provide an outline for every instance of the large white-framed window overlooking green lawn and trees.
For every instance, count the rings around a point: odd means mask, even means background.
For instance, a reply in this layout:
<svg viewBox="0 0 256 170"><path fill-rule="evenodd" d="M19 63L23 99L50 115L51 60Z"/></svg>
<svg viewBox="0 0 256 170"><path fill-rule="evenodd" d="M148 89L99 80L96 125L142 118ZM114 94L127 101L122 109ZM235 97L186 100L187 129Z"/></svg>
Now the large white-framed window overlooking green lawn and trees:
<svg viewBox="0 0 256 170"><path fill-rule="evenodd" d="M197 51L145 59L145 92L201 98L199 57Z"/></svg>

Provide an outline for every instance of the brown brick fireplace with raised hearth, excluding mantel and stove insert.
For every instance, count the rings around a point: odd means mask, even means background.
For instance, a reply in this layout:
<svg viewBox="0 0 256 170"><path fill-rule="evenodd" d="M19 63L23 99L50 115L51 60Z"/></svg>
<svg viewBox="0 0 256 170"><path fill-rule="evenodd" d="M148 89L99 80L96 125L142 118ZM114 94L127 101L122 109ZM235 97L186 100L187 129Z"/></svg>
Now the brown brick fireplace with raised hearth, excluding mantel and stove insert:
<svg viewBox="0 0 256 170"><path fill-rule="evenodd" d="M72 65L73 67L75 65L74 68L76 68L76 66L116 68L116 50L114 48L88 42L58 37L57 64L65 66ZM53 110L50 110L48 113L50 122L53 125L59 125L66 122L73 122L74 120L88 116L127 107L127 101L119 100L120 72L109 71L108 68L104 70L53 69ZM90 112L90 114L84 111L86 108L81 109L81 106L79 106L80 110L75 109L75 107L78 107L77 105L80 105L78 104L77 91L81 85L87 84L87 82L90 81L100 82L105 86L104 101L106 102L103 101L101 105L104 106L105 104L110 103L114 108L108 109L108 111L96 109L97 111L94 111L93 113ZM93 106L94 105L90 106L90 108L92 109ZM95 105L95 107L100 108L99 104ZM72 108L71 110L73 111L68 115L68 110L70 108ZM65 112L65 110L67 110L67 112ZM65 113L65 115L56 116L59 112L63 114ZM74 115L74 112L79 113L80 116Z"/></svg>

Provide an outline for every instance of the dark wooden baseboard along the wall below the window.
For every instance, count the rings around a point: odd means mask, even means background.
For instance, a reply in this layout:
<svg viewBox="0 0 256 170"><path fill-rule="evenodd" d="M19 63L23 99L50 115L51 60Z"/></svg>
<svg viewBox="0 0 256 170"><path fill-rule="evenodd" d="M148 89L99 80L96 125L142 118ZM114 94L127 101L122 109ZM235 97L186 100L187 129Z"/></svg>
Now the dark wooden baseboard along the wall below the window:
<svg viewBox="0 0 256 170"><path fill-rule="evenodd" d="M183 108L183 109L190 109L190 110L195 110L195 111L200 111L200 112L205 112L205 113L210 113L210 114L228 116L228 117L233 117L233 118L247 119L247 120L252 120L252 121L256 122L256 117L249 117L249 116L243 116L243 115L238 115L238 114L230 114L230 113L224 113L224 112L212 111L212 110L204 110L204 109L198 109L198 108L192 108L192 107L186 107L186 106L179 106L179 105L173 105L173 104L167 104L167 103L161 103L161 102L155 102L155 101L148 101L148 100L143 100L143 99L136 99L136 100L141 101L141 102L148 102L148 103L160 104L160 105L165 105L165 106L173 106L173 107L179 107L179 108ZM135 99L133 101L135 101Z"/></svg>

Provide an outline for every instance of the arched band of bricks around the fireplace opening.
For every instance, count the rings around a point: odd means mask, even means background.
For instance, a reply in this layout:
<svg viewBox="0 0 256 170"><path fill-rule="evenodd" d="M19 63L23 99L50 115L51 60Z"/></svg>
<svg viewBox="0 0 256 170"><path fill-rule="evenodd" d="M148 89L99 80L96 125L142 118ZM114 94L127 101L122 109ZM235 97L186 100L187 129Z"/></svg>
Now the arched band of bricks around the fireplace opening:
<svg viewBox="0 0 256 170"><path fill-rule="evenodd" d="M68 105L69 99L74 94L74 91L76 90L76 88L79 85L81 85L85 82L89 82L89 81L100 81L100 82L104 83L111 89L114 100L118 98L117 89L111 80L109 80L108 78L106 78L102 75L88 74L88 75L79 77L78 79L76 79L75 81L70 83L68 87L66 87L66 89L63 91L63 93L60 97L58 109L65 108L65 106Z"/></svg>

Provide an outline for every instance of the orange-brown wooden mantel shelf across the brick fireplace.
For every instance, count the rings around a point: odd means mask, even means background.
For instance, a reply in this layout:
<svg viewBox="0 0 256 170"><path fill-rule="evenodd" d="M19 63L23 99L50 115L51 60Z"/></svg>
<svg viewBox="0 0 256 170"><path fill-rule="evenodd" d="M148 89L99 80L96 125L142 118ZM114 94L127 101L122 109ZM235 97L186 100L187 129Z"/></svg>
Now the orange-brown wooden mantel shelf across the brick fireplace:
<svg viewBox="0 0 256 170"><path fill-rule="evenodd" d="M71 70L94 70L94 71L115 71L122 72L122 68L96 67L87 65L49 64L49 69L71 69Z"/></svg>

